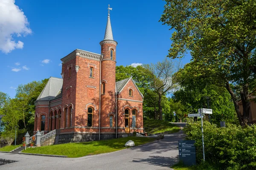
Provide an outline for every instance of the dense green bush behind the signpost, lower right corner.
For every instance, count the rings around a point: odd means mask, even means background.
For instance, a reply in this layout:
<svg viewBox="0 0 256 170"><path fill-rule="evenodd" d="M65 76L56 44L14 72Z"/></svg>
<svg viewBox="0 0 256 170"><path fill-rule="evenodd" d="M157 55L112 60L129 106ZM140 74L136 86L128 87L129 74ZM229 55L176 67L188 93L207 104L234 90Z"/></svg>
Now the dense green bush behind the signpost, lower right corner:
<svg viewBox="0 0 256 170"><path fill-rule="evenodd" d="M197 161L203 159L201 122L184 127L186 139L195 140ZM256 125L242 128L227 124L216 127L204 122L205 159L219 164L225 170L256 169Z"/></svg>

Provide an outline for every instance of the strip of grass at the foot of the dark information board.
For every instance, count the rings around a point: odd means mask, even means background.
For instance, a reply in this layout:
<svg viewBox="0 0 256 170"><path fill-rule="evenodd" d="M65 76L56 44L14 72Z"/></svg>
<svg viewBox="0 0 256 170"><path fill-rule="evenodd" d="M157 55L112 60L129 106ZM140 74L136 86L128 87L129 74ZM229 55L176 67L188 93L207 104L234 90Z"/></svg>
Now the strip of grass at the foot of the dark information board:
<svg viewBox="0 0 256 170"><path fill-rule="evenodd" d="M220 168L208 162L203 162L201 164L191 166L191 167L187 167L181 162L179 162L178 164L173 165L172 169L174 170L219 170Z"/></svg>

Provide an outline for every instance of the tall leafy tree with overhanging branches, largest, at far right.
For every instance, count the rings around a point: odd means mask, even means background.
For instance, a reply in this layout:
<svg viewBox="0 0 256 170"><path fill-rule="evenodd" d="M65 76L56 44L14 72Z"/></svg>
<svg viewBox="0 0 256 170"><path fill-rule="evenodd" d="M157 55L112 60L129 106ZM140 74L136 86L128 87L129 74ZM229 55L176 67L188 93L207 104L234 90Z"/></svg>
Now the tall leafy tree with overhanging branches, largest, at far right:
<svg viewBox="0 0 256 170"><path fill-rule="evenodd" d="M227 89L240 125L247 126L249 94L255 88L256 2L166 0L164 8L160 20L176 30L169 57L190 51L201 78L214 77L212 82Z"/></svg>

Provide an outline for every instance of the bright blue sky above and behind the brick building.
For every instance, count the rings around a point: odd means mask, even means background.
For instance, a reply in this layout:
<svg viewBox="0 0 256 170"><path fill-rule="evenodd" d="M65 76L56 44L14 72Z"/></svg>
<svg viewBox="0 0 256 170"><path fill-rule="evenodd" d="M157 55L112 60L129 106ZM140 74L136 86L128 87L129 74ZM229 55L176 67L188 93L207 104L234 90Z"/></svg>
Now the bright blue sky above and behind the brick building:
<svg viewBox="0 0 256 170"><path fill-rule="evenodd" d="M165 4L162 0L16 0L15 5L24 13L17 15L25 15L27 21L16 16L9 19L10 14L15 15L14 0L3 1L8 1L8 6L0 16L0 27L6 26L4 34L10 34L6 36L13 43L6 47L3 44L6 37L0 36L0 50L1 45L4 47L0 51L3 69L0 91L11 97L19 84L61 78L60 59L76 48L100 54L108 4L113 8L111 26L113 38L118 42L116 65L156 63L166 57L171 45L173 31L158 22ZM183 64L189 60L190 57L185 57Z"/></svg>

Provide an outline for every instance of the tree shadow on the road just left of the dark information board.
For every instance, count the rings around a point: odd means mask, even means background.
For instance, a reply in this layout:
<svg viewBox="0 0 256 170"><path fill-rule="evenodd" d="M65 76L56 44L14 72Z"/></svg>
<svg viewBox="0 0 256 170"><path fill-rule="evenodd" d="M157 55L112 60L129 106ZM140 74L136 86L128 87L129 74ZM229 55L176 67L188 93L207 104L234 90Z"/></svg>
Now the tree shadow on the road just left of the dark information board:
<svg viewBox="0 0 256 170"><path fill-rule="evenodd" d="M149 156L147 159L134 159L132 162L142 163L142 164L153 164L161 167L171 167L173 164L177 163L176 157L164 157L164 156Z"/></svg>

